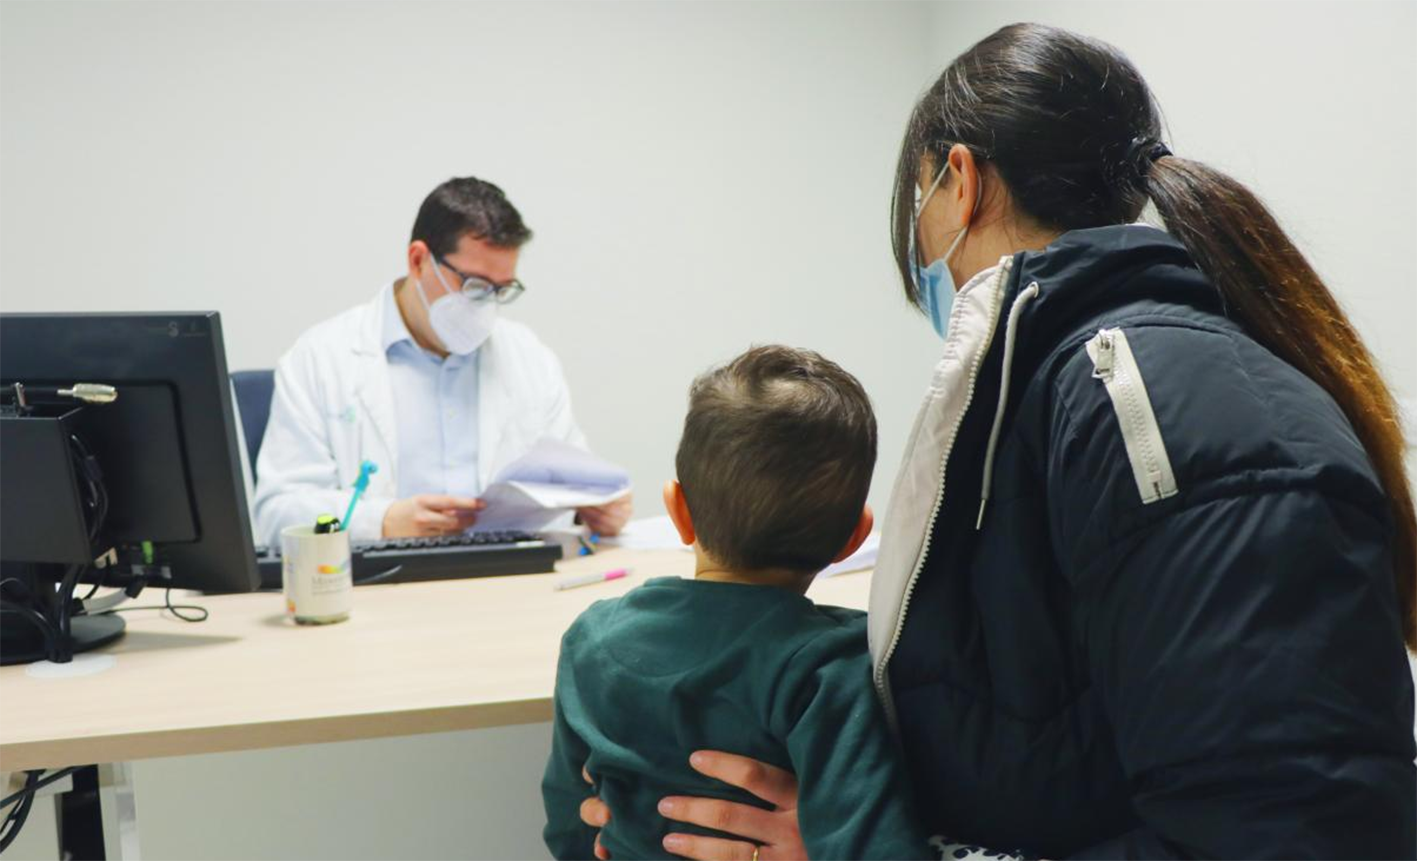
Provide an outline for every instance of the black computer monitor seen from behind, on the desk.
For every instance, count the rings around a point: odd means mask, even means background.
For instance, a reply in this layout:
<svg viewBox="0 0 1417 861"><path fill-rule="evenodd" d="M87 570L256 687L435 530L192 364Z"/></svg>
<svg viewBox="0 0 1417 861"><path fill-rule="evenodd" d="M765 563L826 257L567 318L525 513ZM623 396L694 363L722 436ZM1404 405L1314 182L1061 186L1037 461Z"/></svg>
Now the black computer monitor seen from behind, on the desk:
<svg viewBox="0 0 1417 861"><path fill-rule="evenodd" d="M91 564L109 548L152 557L170 574L163 586L259 586L217 313L0 314L0 404L14 406L17 382L28 409L0 418L0 432L21 440L0 450L0 562L40 583L0 581L0 663L65 660L120 636L119 619L78 616L65 619L72 642L44 644L23 617L47 603L57 616L68 596L47 591L65 578L122 578L122 565ZM113 387L116 398L84 402L75 384ZM85 532L95 474L106 513ZM26 586L34 608L16 606Z"/></svg>

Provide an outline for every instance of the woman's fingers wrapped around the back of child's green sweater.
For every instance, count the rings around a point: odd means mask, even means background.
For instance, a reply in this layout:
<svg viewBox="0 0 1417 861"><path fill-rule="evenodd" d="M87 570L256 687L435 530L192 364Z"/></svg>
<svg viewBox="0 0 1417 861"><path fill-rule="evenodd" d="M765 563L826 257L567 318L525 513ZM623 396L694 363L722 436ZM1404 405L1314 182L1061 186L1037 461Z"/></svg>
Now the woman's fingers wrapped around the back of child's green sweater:
<svg viewBox="0 0 1417 861"><path fill-rule="evenodd" d="M802 845L802 834L798 831L796 823L798 793L796 777L792 772L757 759L718 751L696 751L689 758L689 765L701 775L747 790L775 809L762 810L751 804L718 799L682 796L662 799L659 813L666 819L693 823L744 838L726 840L697 834L667 834L665 836L665 850L696 861L806 861L806 847ZM605 813L608 819L609 811ZM581 819L585 819L584 807ZM608 857L599 853L601 848L597 843L597 857Z"/></svg>

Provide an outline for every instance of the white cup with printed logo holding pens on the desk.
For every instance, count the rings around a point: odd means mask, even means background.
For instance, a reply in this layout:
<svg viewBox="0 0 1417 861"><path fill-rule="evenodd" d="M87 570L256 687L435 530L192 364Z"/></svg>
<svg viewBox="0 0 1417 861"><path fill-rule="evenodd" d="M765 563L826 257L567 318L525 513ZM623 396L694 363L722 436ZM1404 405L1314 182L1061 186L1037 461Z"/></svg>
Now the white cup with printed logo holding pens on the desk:
<svg viewBox="0 0 1417 861"><path fill-rule="evenodd" d="M354 578L347 531L286 527L281 530L281 557L286 615L298 625L330 625L350 617Z"/></svg>

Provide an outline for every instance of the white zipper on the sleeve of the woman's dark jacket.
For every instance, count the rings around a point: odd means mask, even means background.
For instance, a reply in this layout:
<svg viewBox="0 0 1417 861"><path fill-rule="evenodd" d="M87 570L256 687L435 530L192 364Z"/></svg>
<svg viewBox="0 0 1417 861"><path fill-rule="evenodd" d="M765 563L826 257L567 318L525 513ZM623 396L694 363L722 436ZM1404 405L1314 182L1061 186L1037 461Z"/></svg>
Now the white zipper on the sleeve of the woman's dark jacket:
<svg viewBox="0 0 1417 861"><path fill-rule="evenodd" d="M1102 329L1087 343L1087 354L1093 360L1093 378L1107 385L1107 395L1112 399L1142 504L1176 496L1176 474L1170 469L1166 442L1161 436L1151 395L1146 394L1146 381L1136 367L1127 333L1121 329Z"/></svg>

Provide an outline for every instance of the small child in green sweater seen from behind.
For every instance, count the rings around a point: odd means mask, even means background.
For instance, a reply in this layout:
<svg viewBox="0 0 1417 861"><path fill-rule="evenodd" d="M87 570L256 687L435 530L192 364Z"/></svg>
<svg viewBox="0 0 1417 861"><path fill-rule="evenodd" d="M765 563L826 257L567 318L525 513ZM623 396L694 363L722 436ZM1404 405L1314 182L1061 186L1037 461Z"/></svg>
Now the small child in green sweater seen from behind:
<svg viewBox="0 0 1417 861"><path fill-rule="evenodd" d="M812 861L938 858L871 687L866 615L803 595L870 532L874 463L866 392L815 353L757 347L694 381L665 487L694 579L597 602L561 640L541 783L557 858L592 857L591 794L614 811L615 861L673 858L670 831L713 834L659 816L665 796L761 804L690 769L699 749L795 772Z"/></svg>

